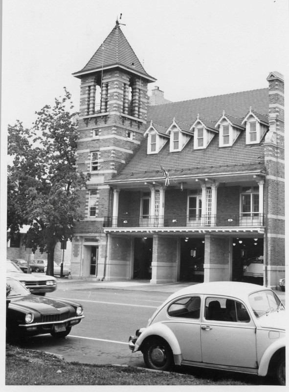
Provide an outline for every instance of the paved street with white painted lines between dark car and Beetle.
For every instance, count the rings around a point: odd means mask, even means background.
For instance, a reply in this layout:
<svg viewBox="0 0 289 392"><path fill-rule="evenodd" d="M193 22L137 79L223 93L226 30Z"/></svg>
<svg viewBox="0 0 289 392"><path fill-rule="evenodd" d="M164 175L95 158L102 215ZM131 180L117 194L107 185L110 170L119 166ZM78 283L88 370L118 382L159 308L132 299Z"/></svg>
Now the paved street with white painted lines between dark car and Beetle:
<svg viewBox="0 0 289 392"><path fill-rule="evenodd" d="M23 340L21 346L59 354L67 361L144 367L142 354L129 350L129 335L146 326L155 309L171 293L188 285L58 279L57 291L47 296L83 304L85 319L65 339L36 336ZM277 294L285 302L285 293Z"/></svg>

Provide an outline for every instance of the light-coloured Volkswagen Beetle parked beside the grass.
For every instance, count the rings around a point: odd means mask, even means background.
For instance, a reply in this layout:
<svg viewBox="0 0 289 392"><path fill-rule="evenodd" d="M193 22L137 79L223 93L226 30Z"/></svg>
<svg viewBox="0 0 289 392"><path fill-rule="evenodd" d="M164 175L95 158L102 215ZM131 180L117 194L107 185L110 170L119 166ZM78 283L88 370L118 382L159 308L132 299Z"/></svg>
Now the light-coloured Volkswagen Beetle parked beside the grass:
<svg viewBox="0 0 289 392"><path fill-rule="evenodd" d="M148 368L272 373L285 385L285 306L272 290L250 283L196 284L169 296L129 347L143 353Z"/></svg>

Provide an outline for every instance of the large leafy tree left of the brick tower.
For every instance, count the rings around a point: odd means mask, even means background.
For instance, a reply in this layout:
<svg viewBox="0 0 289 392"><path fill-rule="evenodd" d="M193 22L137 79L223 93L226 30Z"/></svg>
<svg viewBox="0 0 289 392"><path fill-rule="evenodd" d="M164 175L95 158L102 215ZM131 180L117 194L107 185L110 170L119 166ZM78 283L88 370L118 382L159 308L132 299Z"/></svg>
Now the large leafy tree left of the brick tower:
<svg viewBox="0 0 289 392"><path fill-rule="evenodd" d="M21 122L8 126L7 226L9 236L30 225L24 245L47 252L48 275L53 275L55 245L73 237L79 218L78 190L89 179L76 170L77 114L71 96L55 98L53 107L36 112L30 129Z"/></svg>

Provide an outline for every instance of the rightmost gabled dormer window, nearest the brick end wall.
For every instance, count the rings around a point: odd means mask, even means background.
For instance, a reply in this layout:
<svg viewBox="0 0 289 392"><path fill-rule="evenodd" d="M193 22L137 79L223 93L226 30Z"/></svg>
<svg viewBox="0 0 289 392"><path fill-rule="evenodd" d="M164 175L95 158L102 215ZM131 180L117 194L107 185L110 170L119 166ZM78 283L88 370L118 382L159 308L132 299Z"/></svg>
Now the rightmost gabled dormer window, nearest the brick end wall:
<svg viewBox="0 0 289 392"><path fill-rule="evenodd" d="M250 109L242 124L246 126L246 144L260 143L269 126L267 117L252 109Z"/></svg>

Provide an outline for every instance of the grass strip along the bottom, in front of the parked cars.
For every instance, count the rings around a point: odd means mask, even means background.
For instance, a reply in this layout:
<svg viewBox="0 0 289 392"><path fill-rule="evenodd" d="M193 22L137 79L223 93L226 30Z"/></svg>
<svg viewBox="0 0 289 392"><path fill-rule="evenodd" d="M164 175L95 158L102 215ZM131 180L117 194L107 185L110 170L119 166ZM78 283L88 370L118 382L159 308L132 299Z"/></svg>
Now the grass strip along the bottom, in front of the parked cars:
<svg viewBox="0 0 289 392"><path fill-rule="evenodd" d="M219 372L220 374L220 372ZM244 378L244 380L246 380ZM53 354L6 345L6 385L252 385L221 375L208 378L133 367L66 362ZM256 385L256 381L253 381ZM258 384L258 383L257 383Z"/></svg>

